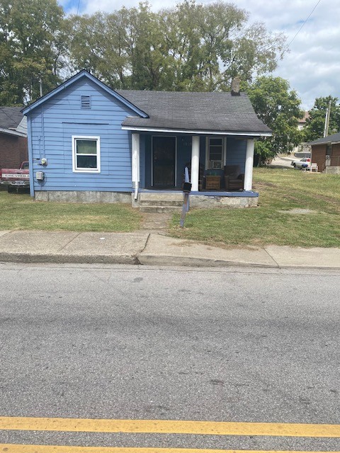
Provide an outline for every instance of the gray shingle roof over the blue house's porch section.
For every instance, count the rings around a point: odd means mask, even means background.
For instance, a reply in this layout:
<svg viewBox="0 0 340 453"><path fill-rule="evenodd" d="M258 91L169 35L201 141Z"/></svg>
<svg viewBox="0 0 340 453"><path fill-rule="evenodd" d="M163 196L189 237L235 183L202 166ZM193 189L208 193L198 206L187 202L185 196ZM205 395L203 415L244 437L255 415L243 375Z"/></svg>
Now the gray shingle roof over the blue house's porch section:
<svg viewBox="0 0 340 453"><path fill-rule="evenodd" d="M149 115L128 117L123 126L207 132L270 133L256 116L245 93L118 90L121 96Z"/></svg>

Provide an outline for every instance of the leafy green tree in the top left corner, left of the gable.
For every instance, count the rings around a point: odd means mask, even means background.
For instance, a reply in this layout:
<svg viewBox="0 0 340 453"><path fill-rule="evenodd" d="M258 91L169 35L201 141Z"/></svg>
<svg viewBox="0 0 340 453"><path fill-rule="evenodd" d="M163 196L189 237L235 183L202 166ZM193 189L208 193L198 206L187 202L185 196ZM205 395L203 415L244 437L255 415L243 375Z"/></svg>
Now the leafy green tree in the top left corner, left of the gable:
<svg viewBox="0 0 340 453"><path fill-rule="evenodd" d="M0 86L2 105L34 101L60 81L66 48L64 12L56 0L1 0Z"/></svg>

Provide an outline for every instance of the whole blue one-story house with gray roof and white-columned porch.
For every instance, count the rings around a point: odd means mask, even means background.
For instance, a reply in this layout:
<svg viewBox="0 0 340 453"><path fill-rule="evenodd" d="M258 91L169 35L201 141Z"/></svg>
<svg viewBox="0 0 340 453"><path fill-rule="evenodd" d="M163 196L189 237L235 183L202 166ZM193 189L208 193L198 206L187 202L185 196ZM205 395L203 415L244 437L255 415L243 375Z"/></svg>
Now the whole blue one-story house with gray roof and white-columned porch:
<svg viewBox="0 0 340 453"><path fill-rule="evenodd" d="M136 206L141 194L180 194L188 164L191 205L257 205L254 139L271 130L244 93L114 91L81 71L23 113L38 200ZM205 190L202 171L222 176L230 165L244 173L244 190L227 192L224 178Z"/></svg>

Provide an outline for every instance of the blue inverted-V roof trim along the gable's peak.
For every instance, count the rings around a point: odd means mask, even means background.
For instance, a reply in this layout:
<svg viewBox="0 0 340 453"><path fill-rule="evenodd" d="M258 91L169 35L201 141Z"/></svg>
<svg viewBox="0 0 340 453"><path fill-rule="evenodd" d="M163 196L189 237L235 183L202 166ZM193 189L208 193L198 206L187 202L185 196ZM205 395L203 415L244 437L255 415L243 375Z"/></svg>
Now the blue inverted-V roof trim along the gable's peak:
<svg viewBox="0 0 340 453"><path fill-rule="evenodd" d="M117 99L118 101L120 101L121 103L126 105L128 108L130 108L132 111L134 111L140 117L147 118L147 116L148 116L147 113L145 113L143 110L138 108L136 105L134 105L127 99L125 99L117 91L114 91L113 89L109 88L106 84L103 84L103 82L96 79L96 77L92 76L88 71L85 71L85 70L80 71L78 74L75 74L73 77L71 77L71 79L68 79L63 84L61 84L60 86L57 86L57 88L50 91L50 93L45 94L45 96L42 96L34 103L28 105L28 107L23 108L23 110L22 110L23 115L28 115L28 113L30 113L32 110L35 110L35 108L37 108L39 105L42 105L46 101L50 100L50 98L55 96L57 93L60 93L64 89L68 88L69 86L72 86L75 82L77 82L79 79L81 79L83 77L87 77L88 79L93 81L94 84L96 84L97 86L102 88L104 91L106 91L106 93L113 96L113 98Z"/></svg>

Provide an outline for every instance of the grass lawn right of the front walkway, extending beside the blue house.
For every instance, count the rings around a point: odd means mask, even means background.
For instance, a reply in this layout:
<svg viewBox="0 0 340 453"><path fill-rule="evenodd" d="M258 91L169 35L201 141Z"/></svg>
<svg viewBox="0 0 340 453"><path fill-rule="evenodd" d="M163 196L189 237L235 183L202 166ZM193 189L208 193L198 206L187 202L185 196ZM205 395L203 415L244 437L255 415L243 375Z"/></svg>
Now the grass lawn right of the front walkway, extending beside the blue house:
<svg viewBox="0 0 340 453"><path fill-rule="evenodd" d="M171 236L230 246L340 247L340 176L254 168L259 207L191 210ZM316 211L289 214L293 209ZM282 212L283 211L283 212Z"/></svg>

